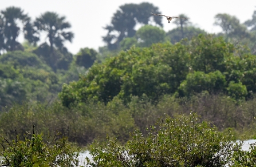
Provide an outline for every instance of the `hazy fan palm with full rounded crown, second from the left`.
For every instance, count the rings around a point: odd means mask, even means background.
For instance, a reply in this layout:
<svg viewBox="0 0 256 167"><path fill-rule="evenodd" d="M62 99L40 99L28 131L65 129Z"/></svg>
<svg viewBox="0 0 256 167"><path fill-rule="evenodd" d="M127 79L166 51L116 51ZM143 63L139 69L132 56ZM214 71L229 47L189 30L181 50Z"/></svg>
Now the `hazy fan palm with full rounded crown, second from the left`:
<svg viewBox="0 0 256 167"><path fill-rule="evenodd" d="M71 27L69 22L65 21L65 17L59 17L57 13L47 11L36 18L34 25L39 31L45 31L49 38L50 50L53 53L53 47L57 47L61 51L66 51L64 41L72 42L74 34L64 31Z"/></svg>

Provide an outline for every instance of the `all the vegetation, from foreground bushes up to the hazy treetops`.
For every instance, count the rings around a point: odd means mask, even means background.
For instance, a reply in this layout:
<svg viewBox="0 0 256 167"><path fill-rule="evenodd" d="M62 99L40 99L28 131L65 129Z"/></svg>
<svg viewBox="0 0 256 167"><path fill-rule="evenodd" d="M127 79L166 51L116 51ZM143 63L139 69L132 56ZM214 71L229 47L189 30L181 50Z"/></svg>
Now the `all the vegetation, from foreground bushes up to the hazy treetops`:
<svg viewBox="0 0 256 167"><path fill-rule="evenodd" d="M217 14L219 34L178 19L165 32L151 12L160 13L147 2L120 6L107 45L73 55L65 16L1 10L2 164L78 166L70 144L93 144L88 166L255 165L255 145L235 144L256 134L255 12L244 24Z"/></svg>

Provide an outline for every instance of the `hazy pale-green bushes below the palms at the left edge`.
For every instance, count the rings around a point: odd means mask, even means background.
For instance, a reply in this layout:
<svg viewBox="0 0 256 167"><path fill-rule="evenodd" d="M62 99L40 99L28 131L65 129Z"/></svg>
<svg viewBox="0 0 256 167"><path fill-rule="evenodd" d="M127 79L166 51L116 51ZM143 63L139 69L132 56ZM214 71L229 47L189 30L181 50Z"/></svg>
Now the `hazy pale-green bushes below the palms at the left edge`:
<svg viewBox="0 0 256 167"><path fill-rule="evenodd" d="M14 102L49 101L60 91L57 75L36 54L8 52L0 66L0 110Z"/></svg>

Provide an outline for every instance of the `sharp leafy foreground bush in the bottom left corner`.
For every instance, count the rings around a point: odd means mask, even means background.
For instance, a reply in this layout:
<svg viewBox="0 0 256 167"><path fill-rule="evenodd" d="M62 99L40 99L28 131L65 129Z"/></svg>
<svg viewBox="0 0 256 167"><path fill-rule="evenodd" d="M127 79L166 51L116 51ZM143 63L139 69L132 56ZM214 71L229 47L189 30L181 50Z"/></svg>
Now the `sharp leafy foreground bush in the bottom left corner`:
<svg viewBox="0 0 256 167"><path fill-rule="evenodd" d="M33 127L34 130L34 127ZM43 142L42 134L26 134L25 140L18 135L13 141L2 137L1 166L78 166L78 153L72 150L67 138L54 136Z"/></svg>

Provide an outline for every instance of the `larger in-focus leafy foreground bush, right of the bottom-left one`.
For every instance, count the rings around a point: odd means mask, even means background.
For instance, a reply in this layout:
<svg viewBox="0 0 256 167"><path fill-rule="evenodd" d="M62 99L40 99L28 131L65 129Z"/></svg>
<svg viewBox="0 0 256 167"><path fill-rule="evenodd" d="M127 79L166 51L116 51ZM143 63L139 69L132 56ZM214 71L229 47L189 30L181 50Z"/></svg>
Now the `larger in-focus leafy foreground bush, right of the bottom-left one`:
<svg viewBox="0 0 256 167"><path fill-rule="evenodd" d="M199 123L195 114L170 118L151 126L147 136L140 130L127 145L108 139L92 146L88 166L225 166L242 143L223 135L207 122Z"/></svg>

